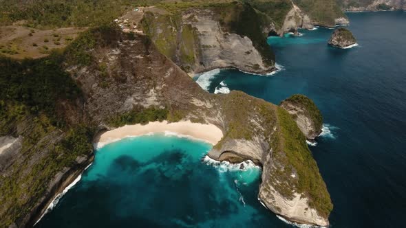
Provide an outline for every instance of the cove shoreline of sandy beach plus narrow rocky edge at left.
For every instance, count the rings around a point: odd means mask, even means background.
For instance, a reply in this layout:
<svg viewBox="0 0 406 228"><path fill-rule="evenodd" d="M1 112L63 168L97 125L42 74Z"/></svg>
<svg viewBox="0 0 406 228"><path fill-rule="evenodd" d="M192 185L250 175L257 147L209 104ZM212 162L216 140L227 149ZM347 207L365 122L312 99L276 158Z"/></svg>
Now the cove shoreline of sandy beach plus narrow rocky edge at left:
<svg viewBox="0 0 406 228"><path fill-rule="evenodd" d="M176 135L178 137L206 141L213 146L223 137L222 130L213 124L192 123L189 120L173 123L167 121L150 122L145 125L126 125L96 135L94 149L97 150L107 144L127 137L151 135L153 133L164 133L165 135ZM28 224L34 227L36 223L39 223L43 216L56 206L59 199L81 180L81 175L87 168L92 166L93 161L94 154L83 161L83 163L66 170L61 179L54 183L50 193L44 196L43 201L30 214Z"/></svg>

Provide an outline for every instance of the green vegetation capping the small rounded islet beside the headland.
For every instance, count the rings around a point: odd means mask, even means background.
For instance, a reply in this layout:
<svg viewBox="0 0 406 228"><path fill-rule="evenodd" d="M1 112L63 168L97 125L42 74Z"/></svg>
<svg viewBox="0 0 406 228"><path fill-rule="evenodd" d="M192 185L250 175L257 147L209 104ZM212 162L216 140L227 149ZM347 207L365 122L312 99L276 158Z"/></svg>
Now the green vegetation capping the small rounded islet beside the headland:
<svg viewBox="0 0 406 228"><path fill-rule="evenodd" d="M316 104L314 104L314 102L310 98L306 97L306 95L295 94L292 95L290 98L284 100L282 103L284 102L289 102L291 104L301 106L308 112L308 116L310 116L310 119L312 119L314 123L314 128L321 129L323 125L323 116L321 115L320 110L319 108L317 108Z"/></svg>

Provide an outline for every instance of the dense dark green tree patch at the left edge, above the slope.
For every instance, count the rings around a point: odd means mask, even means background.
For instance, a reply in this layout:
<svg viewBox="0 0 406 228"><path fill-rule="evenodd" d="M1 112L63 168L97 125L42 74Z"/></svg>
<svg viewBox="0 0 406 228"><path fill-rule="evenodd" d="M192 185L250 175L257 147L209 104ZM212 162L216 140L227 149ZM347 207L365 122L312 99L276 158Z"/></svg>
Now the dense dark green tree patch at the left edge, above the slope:
<svg viewBox="0 0 406 228"><path fill-rule="evenodd" d="M56 119L56 102L74 100L81 94L61 68L62 62L63 56L56 52L47 58L22 62L0 57L0 100L23 104L32 115L42 111Z"/></svg>

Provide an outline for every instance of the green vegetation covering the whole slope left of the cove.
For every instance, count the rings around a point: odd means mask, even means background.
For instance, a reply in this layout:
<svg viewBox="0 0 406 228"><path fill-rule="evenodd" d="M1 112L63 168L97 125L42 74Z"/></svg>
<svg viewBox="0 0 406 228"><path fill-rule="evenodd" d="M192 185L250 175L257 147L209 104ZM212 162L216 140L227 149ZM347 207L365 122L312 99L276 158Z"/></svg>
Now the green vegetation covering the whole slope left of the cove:
<svg viewBox="0 0 406 228"><path fill-rule="evenodd" d="M92 153L92 125L72 122L65 113L79 113L83 99L63 69L65 60L72 58L69 54L77 52L83 50L71 47L70 52L52 52L37 60L0 56L0 136L23 137L21 159L7 176L0 176L0 227L18 224L57 172L74 166L76 157Z"/></svg>

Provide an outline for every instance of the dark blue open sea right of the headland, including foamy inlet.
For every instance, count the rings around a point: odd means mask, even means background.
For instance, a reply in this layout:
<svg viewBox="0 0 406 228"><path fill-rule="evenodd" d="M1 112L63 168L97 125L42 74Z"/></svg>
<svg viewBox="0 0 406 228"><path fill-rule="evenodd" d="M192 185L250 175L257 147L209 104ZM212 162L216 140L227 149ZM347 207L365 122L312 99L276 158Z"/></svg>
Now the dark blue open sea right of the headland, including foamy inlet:
<svg viewBox="0 0 406 228"><path fill-rule="evenodd" d="M348 17L358 47L329 47L325 28L269 38L281 71L220 71L209 91L226 84L275 104L308 95L330 130L310 149L334 203L332 227L405 227L406 12Z"/></svg>

